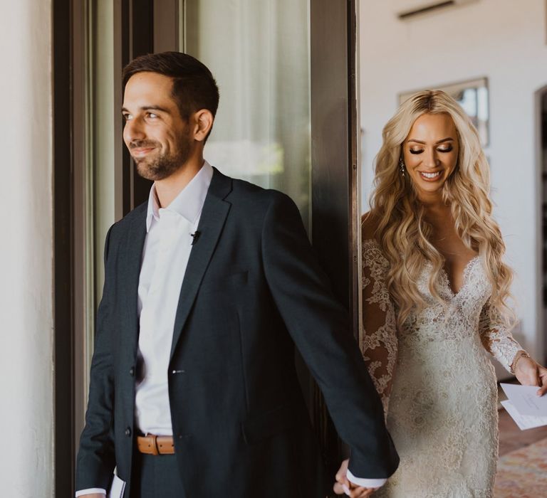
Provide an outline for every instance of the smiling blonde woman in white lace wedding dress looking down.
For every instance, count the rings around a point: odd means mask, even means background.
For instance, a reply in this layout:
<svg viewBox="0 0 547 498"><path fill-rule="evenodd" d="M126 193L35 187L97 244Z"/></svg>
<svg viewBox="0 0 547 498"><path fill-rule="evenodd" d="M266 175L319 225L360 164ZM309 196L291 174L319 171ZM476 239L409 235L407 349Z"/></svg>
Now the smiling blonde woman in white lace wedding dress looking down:
<svg viewBox="0 0 547 498"><path fill-rule="evenodd" d="M511 337L512 274L489 189L476 129L446 93L417 93L386 124L363 216L361 346L401 462L375 496L492 496L497 389L485 350L547 391L547 370Z"/></svg>

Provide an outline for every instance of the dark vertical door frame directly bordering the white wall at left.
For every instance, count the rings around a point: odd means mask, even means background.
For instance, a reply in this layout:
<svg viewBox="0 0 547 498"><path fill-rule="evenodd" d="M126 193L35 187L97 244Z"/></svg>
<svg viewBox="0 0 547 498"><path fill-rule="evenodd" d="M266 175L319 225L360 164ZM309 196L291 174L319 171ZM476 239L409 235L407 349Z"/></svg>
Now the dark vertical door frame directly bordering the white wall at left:
<svg viewBox="0 0 547 498"><path fill-rule="evenodd" d="M73 496L71 0L53 0L54 434L57 496Z"/></svg>

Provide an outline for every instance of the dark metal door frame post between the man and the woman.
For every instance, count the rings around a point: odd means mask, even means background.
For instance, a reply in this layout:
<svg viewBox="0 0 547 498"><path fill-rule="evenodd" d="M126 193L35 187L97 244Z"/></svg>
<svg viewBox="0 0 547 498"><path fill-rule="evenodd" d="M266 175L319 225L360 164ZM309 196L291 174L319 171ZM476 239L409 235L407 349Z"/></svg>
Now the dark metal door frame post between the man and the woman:
<svg viewBox="0 0 547 498"><path fill-rule="evenodd" d="M355 0L311 0L312 243L335 295L348 307L357 338L360 216L355 53ZM328 472L334 477L347 451L318 388L313 407L313 422Z"/></svg>

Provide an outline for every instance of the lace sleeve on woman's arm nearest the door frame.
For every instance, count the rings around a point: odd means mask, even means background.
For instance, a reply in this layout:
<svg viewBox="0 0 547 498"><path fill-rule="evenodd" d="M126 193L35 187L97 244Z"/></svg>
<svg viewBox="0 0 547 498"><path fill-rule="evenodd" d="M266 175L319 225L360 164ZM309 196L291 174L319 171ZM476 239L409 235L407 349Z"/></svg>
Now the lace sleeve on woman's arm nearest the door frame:
<svg viewBox="0 0 547 498"><path fill-rule="evenodd" d="M388 267L389 263L375 240L363 240L363 330L360 346L386 415L397 359L395 308L385 285Z"/></svg>

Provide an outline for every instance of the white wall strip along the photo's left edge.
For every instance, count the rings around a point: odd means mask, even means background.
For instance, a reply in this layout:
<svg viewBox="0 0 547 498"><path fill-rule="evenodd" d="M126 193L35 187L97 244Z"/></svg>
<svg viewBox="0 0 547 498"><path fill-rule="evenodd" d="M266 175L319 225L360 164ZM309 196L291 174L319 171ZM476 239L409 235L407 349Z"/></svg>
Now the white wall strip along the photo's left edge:
<svg viewBox="0 0 547 498"><path fill-rule="evenodd" d="M0 4L0 494L53 497L51 0Z"/></svg>

